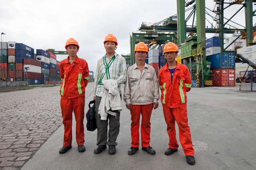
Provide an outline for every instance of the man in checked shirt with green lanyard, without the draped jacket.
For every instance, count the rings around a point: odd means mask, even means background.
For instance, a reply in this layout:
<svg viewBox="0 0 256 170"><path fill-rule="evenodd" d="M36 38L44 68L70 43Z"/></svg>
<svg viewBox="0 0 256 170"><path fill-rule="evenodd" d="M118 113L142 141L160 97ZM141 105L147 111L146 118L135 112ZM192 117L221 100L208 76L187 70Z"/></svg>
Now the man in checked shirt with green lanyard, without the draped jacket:
<svg viewBox="0 0 256 170"><path fill-rule="evenodd" d="M126 81L127 66L125 58L116 54L117 39L113 34L108 34L104 40L104 47L106 54L99 59L96 68L96 86L94 89L94 100L96 105L96 125L97 125L97 148L94 150L95 154L102 153L108 144L108 153L116 153L116 139L119 134L120 127L120 112L116 112L116 116L108 114L107 120L101 120L99 111L99 104L102 99L102 94L105 87L102 81L106 79L116 80L119 93L121 95L120 85ZM108 123L109 120L109 123ZM109 130L108 130L109 124ZM107 141L108 140L108 141Z"/></svg>

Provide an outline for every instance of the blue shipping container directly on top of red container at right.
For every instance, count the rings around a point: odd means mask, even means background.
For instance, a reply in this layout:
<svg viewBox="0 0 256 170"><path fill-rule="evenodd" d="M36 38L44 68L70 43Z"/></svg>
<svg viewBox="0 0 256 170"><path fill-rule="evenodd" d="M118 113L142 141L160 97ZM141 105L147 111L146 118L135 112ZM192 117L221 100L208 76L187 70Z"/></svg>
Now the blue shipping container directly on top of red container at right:
<svg viewBox="0 0 256 170"><path fill-rule="evenodd" d="M211 62L211 69L236 68L235 53L218 53L206 57Z"/></svg>

